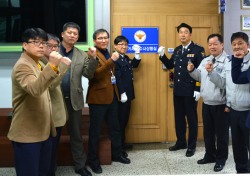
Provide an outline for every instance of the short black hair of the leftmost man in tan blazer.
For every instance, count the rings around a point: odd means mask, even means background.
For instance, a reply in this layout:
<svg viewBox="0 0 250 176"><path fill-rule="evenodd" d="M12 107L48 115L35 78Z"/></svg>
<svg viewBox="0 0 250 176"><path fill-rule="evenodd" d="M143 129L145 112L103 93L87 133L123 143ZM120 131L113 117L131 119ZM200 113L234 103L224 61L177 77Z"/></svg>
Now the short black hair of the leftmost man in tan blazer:
<svg viewBox="0 0 250 176"><path fill-rule="evenodd" d="M41 28L28 28L22 34L22 42L28 42L29 39L48 40L47 33Z"/></svg>

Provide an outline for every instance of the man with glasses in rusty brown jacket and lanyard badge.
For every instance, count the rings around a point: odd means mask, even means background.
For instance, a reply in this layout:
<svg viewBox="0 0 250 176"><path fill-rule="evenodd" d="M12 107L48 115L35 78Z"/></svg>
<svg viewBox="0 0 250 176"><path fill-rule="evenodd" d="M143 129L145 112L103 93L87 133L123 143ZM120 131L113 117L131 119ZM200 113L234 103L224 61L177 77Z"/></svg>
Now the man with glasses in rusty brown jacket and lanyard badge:
<svg viewBox="0 0 250 176"><path fill-rule="evenodd" d="M109 33L98 29L93 34L98 68L92 79L89 79L87 103L90 113L88 163L93 172L100 174L102 168L98 158L98 143L103 122L106 121L112 148L112 161L129 164L130 160L122 152L121 131L118 120L118 97L116 87L115 63L119 53L110 55L108 51Z"/></svg>

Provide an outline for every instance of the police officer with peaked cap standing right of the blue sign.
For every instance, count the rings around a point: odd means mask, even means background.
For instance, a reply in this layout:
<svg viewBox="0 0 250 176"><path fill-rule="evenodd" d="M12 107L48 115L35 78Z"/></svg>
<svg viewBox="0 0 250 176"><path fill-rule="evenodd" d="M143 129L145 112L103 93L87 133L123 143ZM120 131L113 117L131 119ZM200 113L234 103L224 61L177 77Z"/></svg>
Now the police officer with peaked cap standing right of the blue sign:
<svg viewBox="0 0 250 176"><path fill-rule="evenodd" d="M165 47L158 49L159 59L168 68L174 68L174 112L176 144L169 148L170 151L186 149L186 156L191 157L196 150L198 134L197 101L200 98L200 84L190 77L187 64L191 61L195 68L205 56L202 46L191 41L192 27L181 23L177 27L181 45L176 47L171 58L165 55ZM188 141L186 141L186 118L189 127Z"/></svg>

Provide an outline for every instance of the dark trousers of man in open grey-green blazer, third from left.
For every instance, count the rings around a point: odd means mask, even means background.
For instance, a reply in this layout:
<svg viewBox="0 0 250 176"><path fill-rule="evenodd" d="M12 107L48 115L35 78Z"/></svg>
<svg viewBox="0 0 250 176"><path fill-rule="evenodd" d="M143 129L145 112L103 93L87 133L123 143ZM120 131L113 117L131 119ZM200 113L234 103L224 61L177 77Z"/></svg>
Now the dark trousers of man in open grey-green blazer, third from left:
<svg viewBox="0 0 250 176"><path fill-rule="evenodd" d="M68 111L68 132L70 135L71 153L75 165L75 170L85 167L86 155L83 147L81 135L82 127L82 109L75 111L72 107L70 98L65 98Z"/></svg>

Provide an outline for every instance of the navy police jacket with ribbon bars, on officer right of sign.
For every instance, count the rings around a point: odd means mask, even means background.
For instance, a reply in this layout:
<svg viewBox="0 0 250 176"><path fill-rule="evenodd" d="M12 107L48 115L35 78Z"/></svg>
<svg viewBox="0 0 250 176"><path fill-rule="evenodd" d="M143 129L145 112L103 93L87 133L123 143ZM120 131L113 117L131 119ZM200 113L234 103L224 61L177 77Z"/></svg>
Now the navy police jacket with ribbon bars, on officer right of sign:
<svg viewBox="0 0 250 176"><path fill-rule="evenodd" d="M199 91L199 86L196 86L196 81L187 71L187 64L190 60L197 68L204 56L204 48L193 42L183 53L182 45L176 47L170 59L166 55L160 56L160 60L168 69L174 68L174 95L193 96L195 90Z"/></svg>

